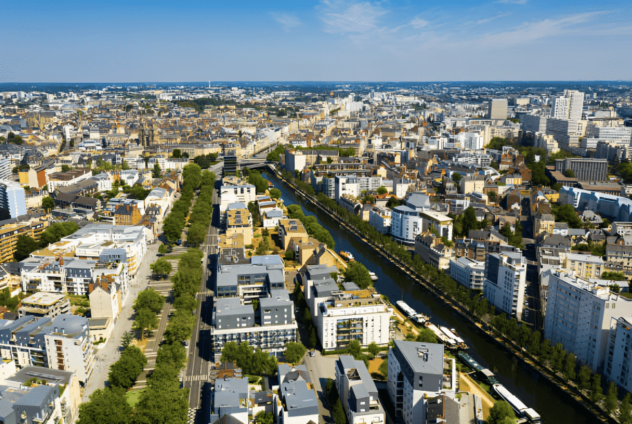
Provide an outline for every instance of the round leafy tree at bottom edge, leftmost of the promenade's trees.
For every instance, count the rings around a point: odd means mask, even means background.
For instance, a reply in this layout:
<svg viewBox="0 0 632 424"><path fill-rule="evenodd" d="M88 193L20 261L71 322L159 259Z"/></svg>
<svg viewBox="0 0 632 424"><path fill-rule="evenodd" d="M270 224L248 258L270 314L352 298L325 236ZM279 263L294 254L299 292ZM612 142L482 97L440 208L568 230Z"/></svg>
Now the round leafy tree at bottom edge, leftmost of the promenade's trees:
<svg viewBox="0 0 632 424"><path fill-rule="evenodd" d="M132 409L125 389L106 387L90 395L90 401L79 405L77 424L130 424Z"/></svg>

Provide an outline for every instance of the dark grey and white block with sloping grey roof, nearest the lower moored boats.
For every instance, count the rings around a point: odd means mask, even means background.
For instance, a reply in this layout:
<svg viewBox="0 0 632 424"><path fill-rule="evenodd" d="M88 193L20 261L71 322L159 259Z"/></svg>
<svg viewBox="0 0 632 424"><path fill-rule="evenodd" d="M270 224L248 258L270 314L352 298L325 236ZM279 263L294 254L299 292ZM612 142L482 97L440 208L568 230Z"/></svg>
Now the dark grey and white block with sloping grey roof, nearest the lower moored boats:
<svg viewBox="0 0 632 424"><path fill-rule="evenodd" d="M443 345L393 340L387 389L395 416L404 424L425 423L428 396L443 389Z"/></svg>

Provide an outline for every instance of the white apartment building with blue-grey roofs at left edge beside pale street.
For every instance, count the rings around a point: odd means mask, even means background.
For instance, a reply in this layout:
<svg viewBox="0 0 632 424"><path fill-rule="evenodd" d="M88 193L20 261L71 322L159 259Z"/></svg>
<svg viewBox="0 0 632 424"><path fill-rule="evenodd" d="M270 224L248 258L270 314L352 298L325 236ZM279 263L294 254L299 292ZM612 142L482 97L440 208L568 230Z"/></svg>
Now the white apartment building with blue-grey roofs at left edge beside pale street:
<svg viewBox="0 0 632 424"><path fill-rule="evenodd" d="M74 372L86 383L95 363L88 319L62 314L55 318L24 316L0 320L0 354L19 367L36 365Z"/></svg>

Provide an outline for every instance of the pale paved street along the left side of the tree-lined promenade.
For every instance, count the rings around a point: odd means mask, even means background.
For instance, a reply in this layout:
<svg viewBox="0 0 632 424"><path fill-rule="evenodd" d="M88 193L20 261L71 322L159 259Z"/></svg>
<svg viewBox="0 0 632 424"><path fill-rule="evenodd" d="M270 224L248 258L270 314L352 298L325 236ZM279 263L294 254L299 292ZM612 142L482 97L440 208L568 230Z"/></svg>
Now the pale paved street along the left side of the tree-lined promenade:
<svg viewBox="0 0 632 424"><path fill-rule="evenodd" d="M149 286L149 280L151 278L151 269L149 264L155 262L156 253L158 253L158 246L160 243L155 242L150 244L145 253L145 258L142 259L136 277L131 280L130 290L127 298L122 305L122 311L118 316L114 324L112 334L107 340L105 347L97 351L96 363L94 371L88 380L86 389L84 390L83 401L89 400L89 396L96 390L105 387L108 373L110 371L110 365L115 363L120 355L120 341L124 333L131 330L133 323L133 303L136 300L138 293Z"/></svg>

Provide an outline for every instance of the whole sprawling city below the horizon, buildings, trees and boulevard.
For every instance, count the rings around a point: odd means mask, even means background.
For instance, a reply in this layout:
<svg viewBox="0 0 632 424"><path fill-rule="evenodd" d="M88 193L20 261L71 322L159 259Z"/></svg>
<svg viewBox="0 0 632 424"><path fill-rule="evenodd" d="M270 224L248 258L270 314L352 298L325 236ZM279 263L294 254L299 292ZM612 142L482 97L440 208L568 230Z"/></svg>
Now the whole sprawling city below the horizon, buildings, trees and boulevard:
<svg viewBox="0 0 632 424"><path fill-rule="evenodd" d="M631 423L631 159L627 82L0 84L0 422Z"/></svg>

